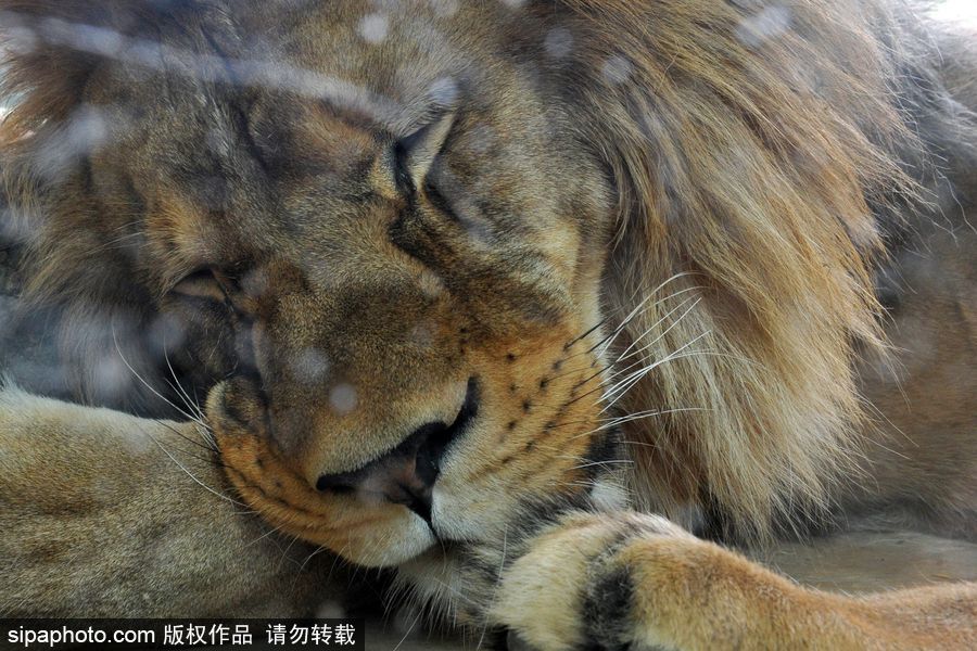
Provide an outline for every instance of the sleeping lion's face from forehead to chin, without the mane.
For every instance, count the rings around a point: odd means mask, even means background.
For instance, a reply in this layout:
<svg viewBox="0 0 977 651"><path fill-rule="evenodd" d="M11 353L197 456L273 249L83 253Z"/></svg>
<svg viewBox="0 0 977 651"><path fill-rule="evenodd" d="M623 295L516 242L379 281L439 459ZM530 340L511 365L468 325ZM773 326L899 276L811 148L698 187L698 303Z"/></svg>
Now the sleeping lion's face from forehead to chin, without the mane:
<svg viewBox="0 0 977 651"><path fill-rule="evenodd" d="M586 494L613 455L595 346L611 192L502 38L524 16L291 17L250 16L280 25L261 47L217 31L158 69L120 56L78 110L109 129L83 237L138 240L126 263L166 363L214 385L229 478L367 564Z"/></svg>

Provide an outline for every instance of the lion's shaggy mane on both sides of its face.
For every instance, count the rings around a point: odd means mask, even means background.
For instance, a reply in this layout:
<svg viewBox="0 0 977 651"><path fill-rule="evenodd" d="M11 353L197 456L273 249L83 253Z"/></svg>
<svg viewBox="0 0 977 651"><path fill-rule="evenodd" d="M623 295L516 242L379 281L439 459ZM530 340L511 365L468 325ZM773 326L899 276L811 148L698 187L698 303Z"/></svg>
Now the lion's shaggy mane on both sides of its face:
<svg viewBox="0 0 977 651"><path fill-rule="evenodd" d="M53 15L134 33L145 20L102 7L92 15L90 2L0 2L21 21ZM767 533L777 514L822 512L832 483L858 472L853 433L867 416L853 361L884 348L873 265L905 228L900 215L928 209L937 143L917 123L949 125L954 111L941 103L913 9L880 0L524 9L542 21L532 25L573 35L566 102L617 191L604 308L611 328L630 317L616 340L630 354L621 363L655 368L633 378L621 404L627 413L661 410L624 425L636 444L635 494L672 515L689 503L718 510L727 533L747 536ZM103 279L85 270L100 254L73 242L85 209L71 192L47 192L34 153L77 108L97 56L55 37L12 48L2 89L21 98L2 126L18 219L76 216L47 220L53 230L35 243L28 295L75 318L99 305ZM690 342L698 354L683 354ZM67 353L72 373L84 375L92 354Z"/></svg>

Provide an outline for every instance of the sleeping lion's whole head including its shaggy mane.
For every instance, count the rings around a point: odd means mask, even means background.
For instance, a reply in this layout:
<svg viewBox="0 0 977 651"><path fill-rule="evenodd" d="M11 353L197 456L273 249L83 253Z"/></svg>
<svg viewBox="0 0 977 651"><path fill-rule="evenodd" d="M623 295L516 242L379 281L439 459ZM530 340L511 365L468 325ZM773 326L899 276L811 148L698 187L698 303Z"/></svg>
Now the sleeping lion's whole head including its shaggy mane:
<svg viewBox="0 0 977 651"><path fill-rule="evenodd" d="M874 3L0 8L66 390L206 396L275 526L393 564L619 480L823 502L911 190Z"/></svg>

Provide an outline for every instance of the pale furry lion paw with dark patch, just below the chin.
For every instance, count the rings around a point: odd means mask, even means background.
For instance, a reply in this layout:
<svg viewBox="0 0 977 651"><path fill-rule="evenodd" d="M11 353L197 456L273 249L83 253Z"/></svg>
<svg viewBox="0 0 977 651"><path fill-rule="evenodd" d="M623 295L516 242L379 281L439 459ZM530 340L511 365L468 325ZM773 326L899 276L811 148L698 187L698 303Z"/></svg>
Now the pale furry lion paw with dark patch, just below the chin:
<svg viewBox="0 0 977 651"><path fill-rule="evenodd" d="M574 515L508 567L491 617L510 650L654 648L649 600L668 599L676 578L649 552L699 545L655 515Z"/></svg>

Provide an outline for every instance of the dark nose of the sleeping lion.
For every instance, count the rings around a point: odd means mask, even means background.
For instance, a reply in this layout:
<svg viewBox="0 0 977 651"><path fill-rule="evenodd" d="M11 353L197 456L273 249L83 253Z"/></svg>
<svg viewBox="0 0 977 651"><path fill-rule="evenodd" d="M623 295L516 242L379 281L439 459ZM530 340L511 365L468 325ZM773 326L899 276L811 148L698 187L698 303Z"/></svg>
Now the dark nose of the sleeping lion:
<svg viewBox="0 0 977 651"><path fill-rule="evenodd" d="M478 413L478 393L477 382L469 380L465 404L453 423L421 425L393 450L364 468L319 476L316 488L404 505L431 524L431 494L441 473L442 458Z"/></svg>

